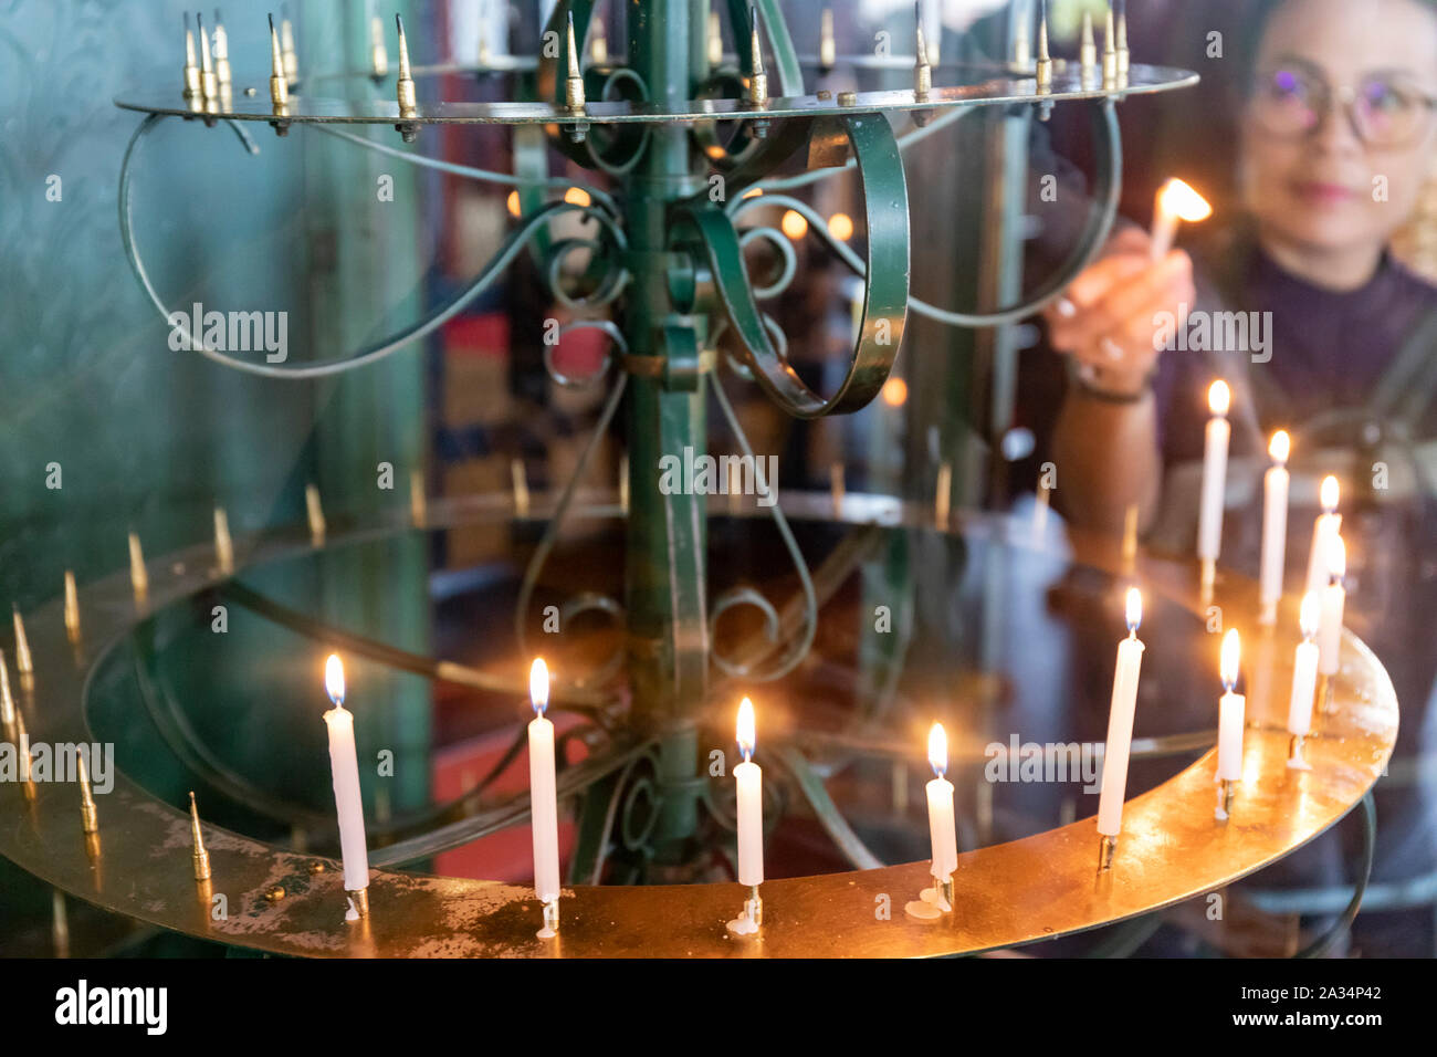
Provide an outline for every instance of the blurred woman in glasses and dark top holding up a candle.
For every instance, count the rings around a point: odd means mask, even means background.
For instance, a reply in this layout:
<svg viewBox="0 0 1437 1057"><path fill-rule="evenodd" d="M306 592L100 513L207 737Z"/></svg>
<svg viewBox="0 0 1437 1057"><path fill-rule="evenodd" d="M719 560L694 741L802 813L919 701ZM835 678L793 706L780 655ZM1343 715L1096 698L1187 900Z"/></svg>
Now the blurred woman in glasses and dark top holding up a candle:
<svg viewBox="0 0 1437 1057"><path fill-rule="evenodd" d="M1286 429L1288 584L1308 558L1305 508L1321 476L1336 473L1346 623L1392 674L1398 756L1420 772L1437 759L1424 715L1437 712L1427 706L1437 670L1437 288L1388 246L1437 174L1437 6L1257 7L1240 122L1246 216L1204 233L1196 266L1181 250L1154 263L1147 234L1127 230L1046 314L1069 365L1052 437L1053 500L1073 522L1109 531L1135 506L1151 546L1191 554L1207 393L1224 378L1234 462L1221 564L1256 574L1267 437ZM1226 316L1247 322L1247 339L1229 342L1242 347L1177 351L1174 321L1207 314L1190 322L1210 338L1230 334L1211 326L1217 312L1244 314ZM1380 879L1437 869L1431 798L1420 791L1410 775L1380 785L1390 801L1384 810L1380 795ZM1411 952L1431 955L1424 915Z"/></svg>

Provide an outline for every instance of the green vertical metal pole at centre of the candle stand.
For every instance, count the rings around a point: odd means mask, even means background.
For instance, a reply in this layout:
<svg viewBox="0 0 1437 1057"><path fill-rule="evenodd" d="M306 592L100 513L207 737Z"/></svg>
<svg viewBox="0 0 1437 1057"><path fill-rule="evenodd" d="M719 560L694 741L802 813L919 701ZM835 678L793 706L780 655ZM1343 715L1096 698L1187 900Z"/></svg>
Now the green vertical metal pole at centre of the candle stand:
<svg viewBox="0 0 1437 1057"><path fill-rule="evenodd" d="M703 0L635 0L628 7L629 56L648 85L650 101L693 98L703 65L707 6ZM629 349L670 355L675 316L670 299L668 206L693 194L696 173L688 129L657 125L629 177L627 229L634 283L624 312ZM627 608L634 712L660 735L658 818L651 836L655 860L680 861L698 825L698 732L690 722L704 697L708 634L706 499L662 495L660 457L706 449L703 385L677 390L668 381L635 377L629 388L629 521Z"/></svg>

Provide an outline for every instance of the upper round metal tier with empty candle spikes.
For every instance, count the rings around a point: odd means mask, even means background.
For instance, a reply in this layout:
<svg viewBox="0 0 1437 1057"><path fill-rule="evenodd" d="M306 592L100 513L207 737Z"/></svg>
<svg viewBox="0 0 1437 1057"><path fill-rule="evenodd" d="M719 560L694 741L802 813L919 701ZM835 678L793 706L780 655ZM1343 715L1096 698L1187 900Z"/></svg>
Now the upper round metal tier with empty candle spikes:
<svg viewBox="0 0 1437 1057"><path fill-rule="evenodd" d="M461 68L445 68L464 72ZM1198 82L1197 73L1168 66L1132 66L1122 82L1105 86L1101 79L1083 79L1081 68L1069 65L1053 75L1049 89L1039 91L1032 76L1013 76L1004 66L950 66L961 85L938 88L920 101L912 89L887 92L823 92L769 99L763 108L753 108L743 99L690 99L678 106L628 101L592 101L582 114L570 114L547 102L421 102L412 114L399 115L394 99L336 99L306 96L300 89L283 106L274 106L269 89L257 85L236 85L231 102L187 101L180 88L168 92L135 92L115 101L116 106L144 114L174 116L289 121L297 124L355 124L355 125L611 125L661 124L698 121L744 121L763 118L821 118L877 111L943 111L956 106L993 106L1006 104L1063 102L1072 99L1121 98L1190 88ZM428 72L438 72L431 68ZM470 69L468 72L481 72ZM421 70L415 69L415 73ZM356 75L358 76L358 75ZM341 75L319 75L315 82L336 81ZM379 89L375 89L379 91Z"/></svg>

